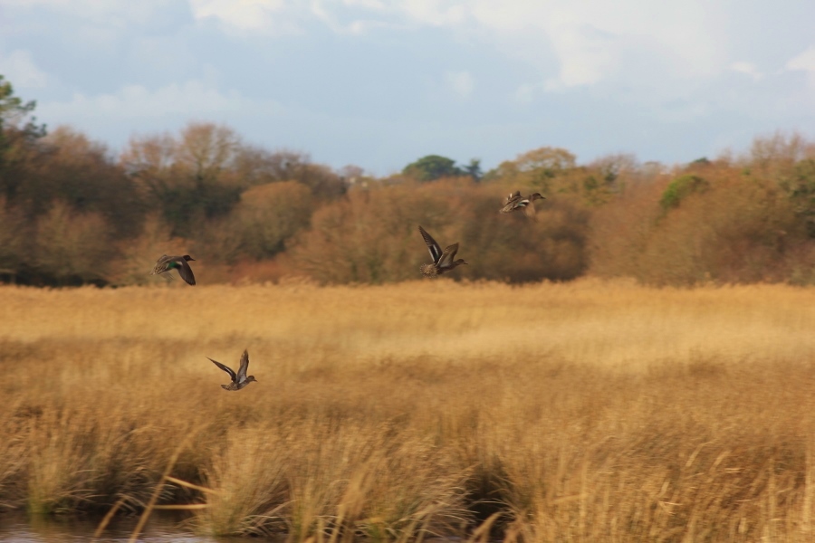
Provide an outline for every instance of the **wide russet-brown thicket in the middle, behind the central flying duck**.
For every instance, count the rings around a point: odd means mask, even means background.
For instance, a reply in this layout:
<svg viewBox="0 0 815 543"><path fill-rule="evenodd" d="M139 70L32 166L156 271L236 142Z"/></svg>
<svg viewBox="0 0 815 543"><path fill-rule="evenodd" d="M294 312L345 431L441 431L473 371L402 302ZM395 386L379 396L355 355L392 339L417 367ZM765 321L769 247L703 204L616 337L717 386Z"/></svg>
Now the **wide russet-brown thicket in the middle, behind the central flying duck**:
<svg viewBox="0 0 815 543"><path fill-rule="evenodd" d="M588 215L568 201L542 208L541 222L498 213L492 187L457 179L351 191L312 217L287 259L324 283L418 279L430 259L421 224L444 248L460 243L469 263L452 279L572 279L588 265Z"/></svg>

